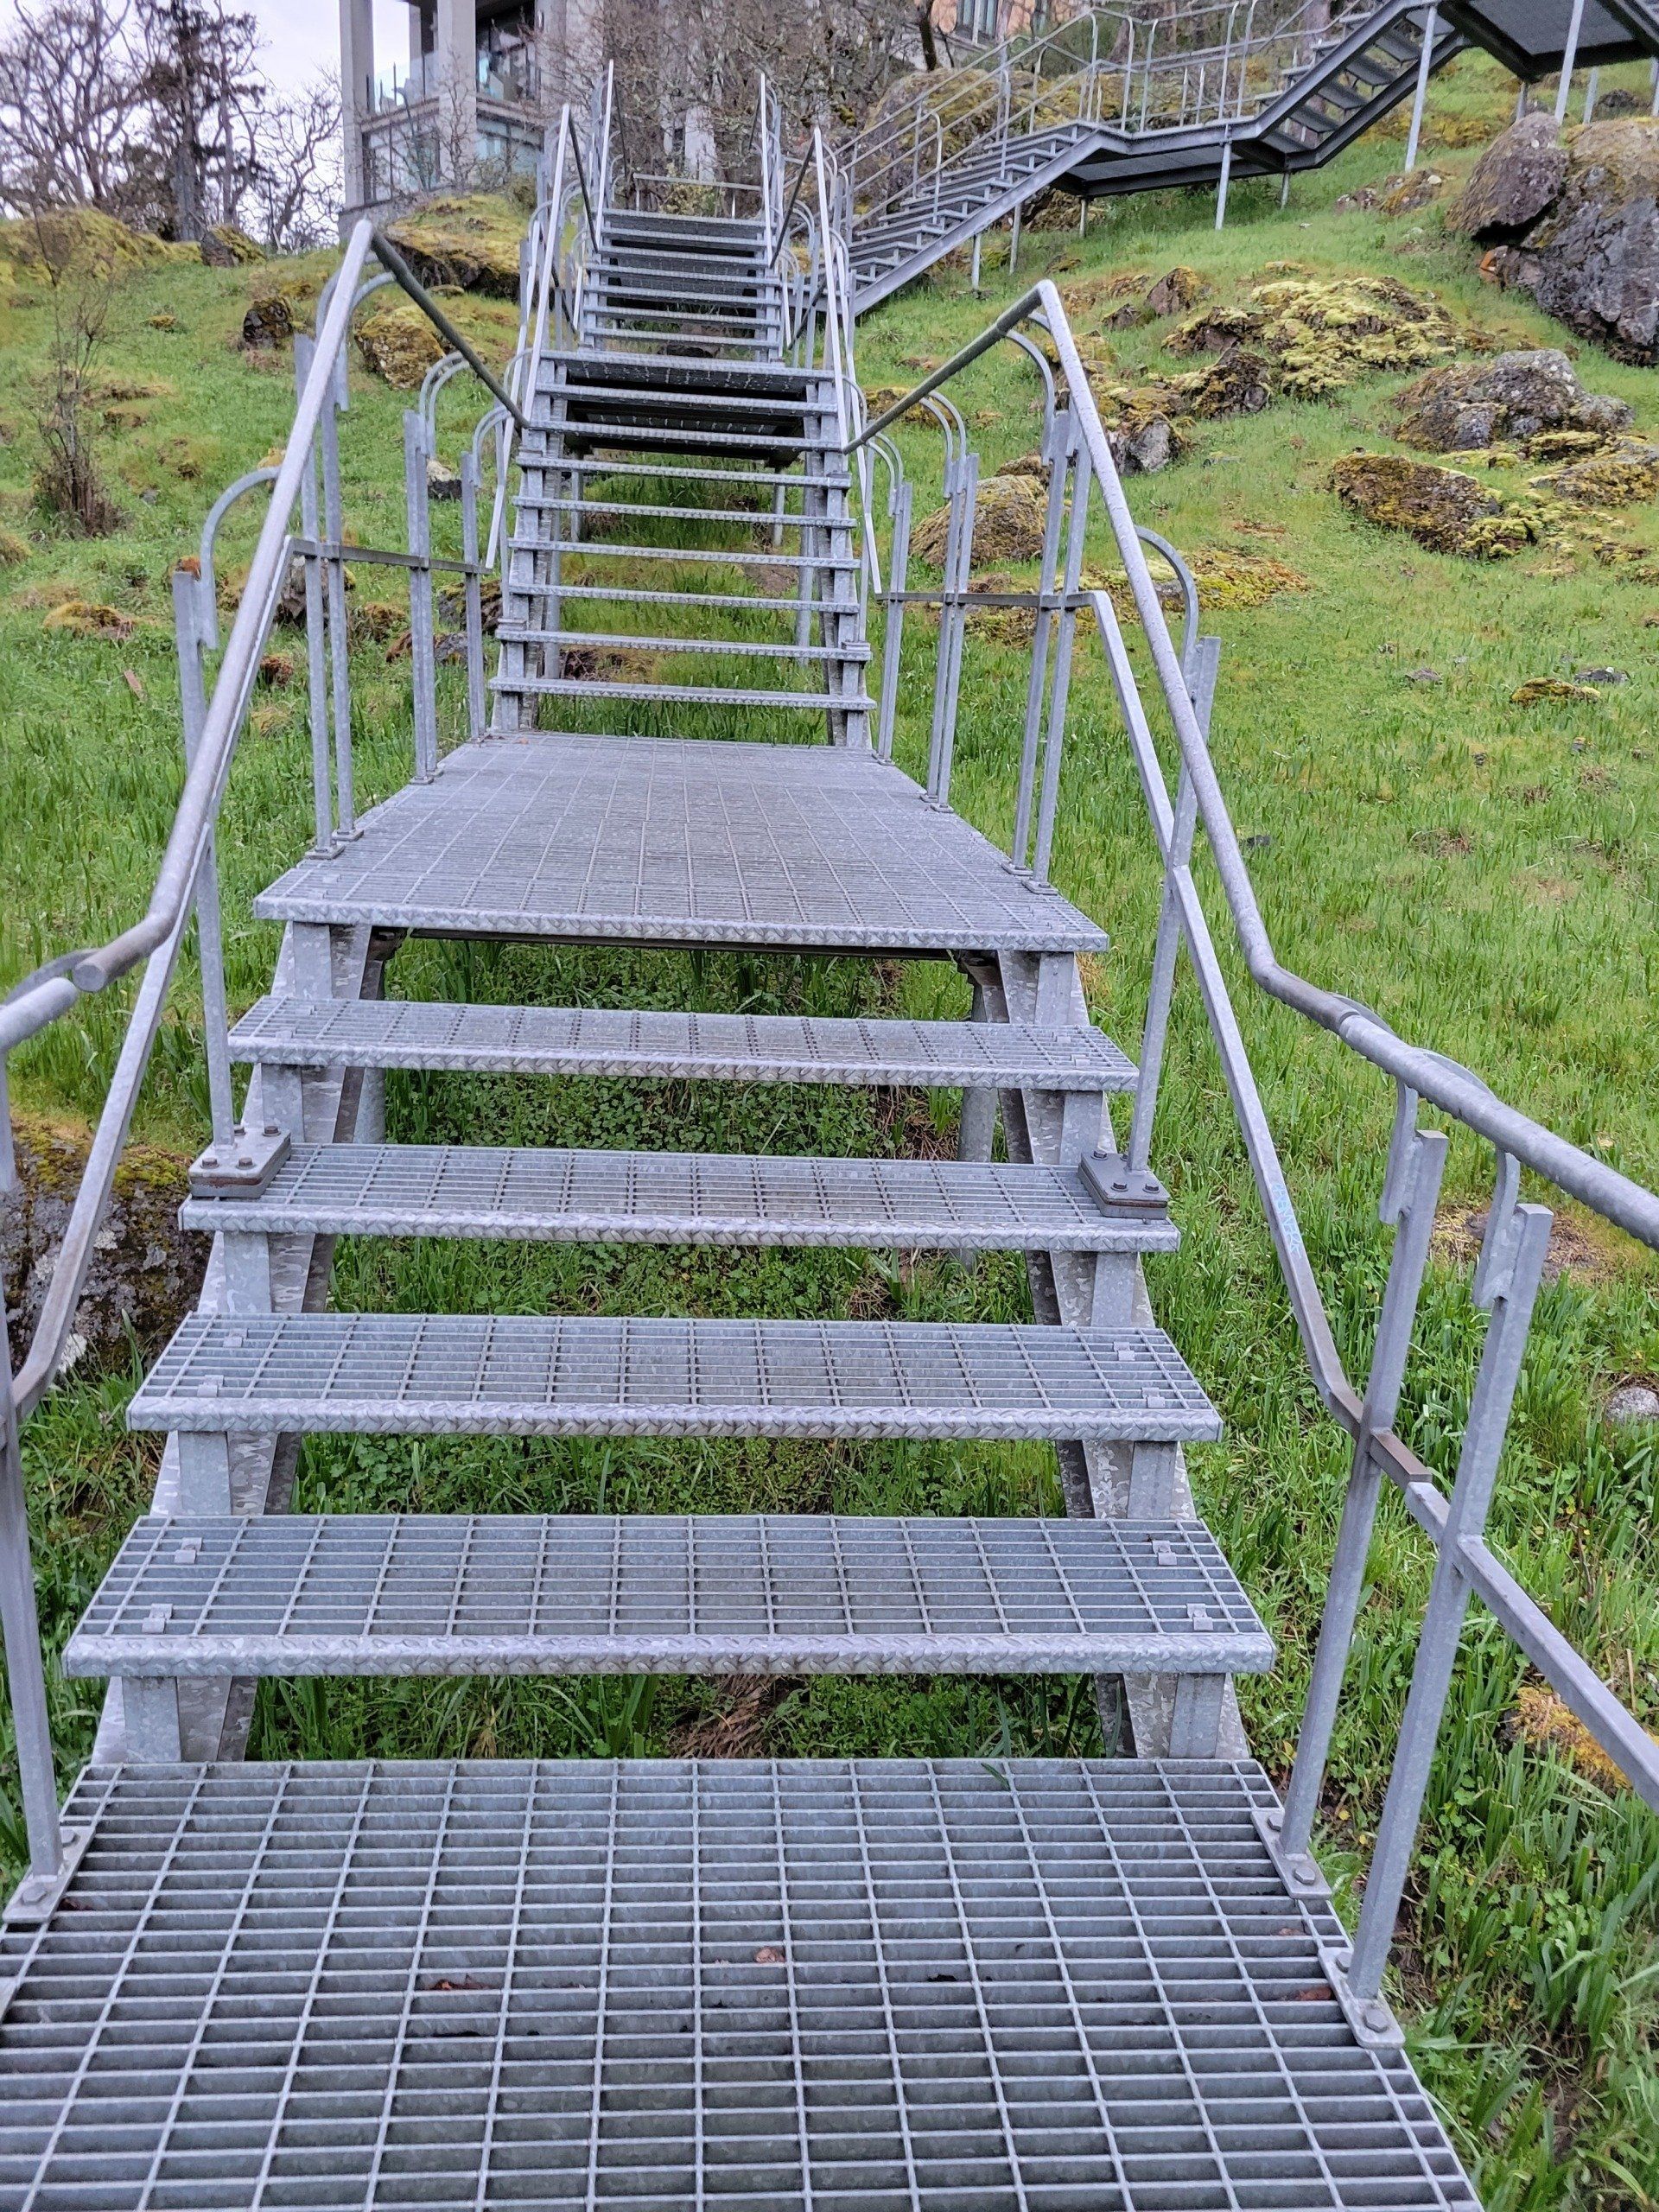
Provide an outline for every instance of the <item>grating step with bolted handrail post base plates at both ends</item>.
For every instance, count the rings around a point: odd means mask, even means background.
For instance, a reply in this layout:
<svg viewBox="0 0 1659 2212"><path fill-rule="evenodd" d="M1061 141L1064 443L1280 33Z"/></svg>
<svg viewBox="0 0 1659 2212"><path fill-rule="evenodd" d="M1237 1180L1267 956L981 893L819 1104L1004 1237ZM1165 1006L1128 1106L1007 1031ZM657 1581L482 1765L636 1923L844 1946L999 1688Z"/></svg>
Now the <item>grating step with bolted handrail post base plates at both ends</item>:
<svg viewBox="0 0 1659 2212"><path fill-rule="evenodd" d="M1079 1177L956 1159L296 1146L257 1199L186 1199L188 1230L557 1243L1172 1252L1170 1221L1108 1219Z"/></svg>

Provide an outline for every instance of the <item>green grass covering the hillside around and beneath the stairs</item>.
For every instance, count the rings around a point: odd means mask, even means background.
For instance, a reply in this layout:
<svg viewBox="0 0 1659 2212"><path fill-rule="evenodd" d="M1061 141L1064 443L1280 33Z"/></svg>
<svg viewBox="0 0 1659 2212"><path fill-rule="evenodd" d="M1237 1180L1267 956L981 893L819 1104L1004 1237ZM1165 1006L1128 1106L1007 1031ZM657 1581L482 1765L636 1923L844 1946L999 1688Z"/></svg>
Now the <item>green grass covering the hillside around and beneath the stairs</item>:
<svg viewBox="0 0 1659 2212"><path fill-rule="evenodd" d="M1621 82L1626 73L1604 75ZM1495 69L1462 62L1436 86L1431 126L1444 131L1447 122L1482 115L1495 124L1511 97ZM858 334L860 376L865 385L907 383L916 361L945 358L1042 270L1064 285L1115 268L1159 274L1186 261L1225 294L1263 263L1296 259L1314 272L1402 276L1438 292L1460 323L1506 343L1564 343L1593 389L1630 398L1639 427L1659 431L1652 372L1606 361L1522 296L1482 285L1471 250L1444 234L1438 208L1405 221L1334 208L1338 195L1380 177L1398 155L1398 139L1360 144L1329 173L1298 179L1285 212L1267 186L1234 188L1221 234L1210 228L1210 201L1183 195L1097 208L1082 241L1029 232L1018 279L991 248L980 299L951 270L872 316ZM1455 179L1473 155L1444 153L1431 128L1429 159ZM150 425L113 434L111 467L126 487L133 524L95 546L53 538L27 509L27 376L40 363L42 319L38 307L0 310L0 341L20 363L0 400L13 434L0 442L0 520L38 535L33 555L0 577L7 980L111 931L144 902L179 781L166 633L142 628L124 646L49 641L31 599L49 586L73 586L146 622L166 615L166 571L190 546L212 489L283 434L288 385L230 352L250 288L243 274L168 270L124 299L113 361L124 374L168 378L175 398L157 403ZM161 305L179 319L173 334L148 330L146 319ZM1110 334L1121 374L1157 365L1161 336L1164 325ZM1659 608L1659 586L1588 564L1564 577L1542 575L1535 571L1546 562L1533 555L1467 564L1347 518L1325 482L1329 462L1360 442L1387 447L1402 380L1378 376L1329 405L1281 405L1254 420L1208 425L1181 465L1130 482L1130 500L1141 520L1186 549L1265 551L1312 586L1206 619L1223 637L1217 765L1239 830L1252 841L1250 867L1281 958L1374 1004L1402 1035L1469 1062L1502 1095L1652 1181L1659 630L1641 624ZM1035 380L1011 352L975 367L958 398L984 469L1033 447ZM358 380L347 482L354 526L367 538L394 531L400 513L392 462L400 405ZM453 405L458 420L462 403ZM190 478L168 465L181 438L199 471ZM936 504L938 453L909 429L905 447L922 487L920 518ZM153 507L137 498L146 484L157 491ZM1659 535L1655 520L1652 511L1635 515L1648 546ZM1104 542L1091 557L1106 560ZM378 584L365 580L365 595L380 595ZM1144 644L1130 637L1144 664ZM931 630L914 611L898 732L911 770L925 757L931 653ZM361 783L374 796L405 772L405 670L387 668L374 650L358 661L367 686ZM1509 703L1526 677L1584 664L1613 664L1630 681L1595 706ZM708 679L717 666L710 661L692 679ZM1411 670L1425 666L1442 681L1411 681ZM144 699L133 697L124 668L139 677ZM1011 823L1022 699L1022 657L973 630L953 796L1000 838ZM451 730L458 706L451 686ZM223 838L237 1002L263 989L274 953L274 929L248 918L248 898L301 849L307 825L299 695L272 695L259 714ZM686 728L677 717L675 726ZM710 721L710 734L737 732ZM1088 989L1099 1020L1133 1048L1159 878L1091 639L1079 644L1073 686L1055 876L1113 931L1115 949L1091 962ZM1376 1201L1391 1097L1329 1037L1250 991L1219 896L1210 896L1210 911L1338 1345L1349 1371L1363 1374L1389 1254ZM411 947L394 969L394 989L816 1011L936 1013L964 1004L960 978L925 964L872 973L854 962L723 953L690 960ZM77 1024L60 1024L22 1055L13 1071L20 1104L64 1119L91 1115L119 1018L117 1002L93 1004ZM201 1091L195 978L186 973L146 1095L144 1133L192 1146ZM949 1141L949 1099L929 1106L843 1093L429 1077L392 1084L389 1124L394 1135L425 1141L867 1152ZM1152 1298L1225 1416L1225 1442L1194 1453L1194 1489L1281 1641L1279 1670L1248 1683L1245 1717L1259 1754L1283 1774L1347 1455L1305 1378L1190 982L1177 1000L1157 1166L1175 1190L1183 1250L1150 1265ZM1484 1203L1489 1179L1489 1157L1458 1137L1449 1206ZM1579 1232L1571 1248L1577 1263L1540 1305L1493 1542L1566 1635L1655 1723L1659 1444L1630 1431L1613 1436L1599 1405L1610 1380L1659 1369L1659 1279L1639 1248L1597 1232L1573 1208L1564 1212ZM1026 1310L1022 1272L1009 1261L962 1274L942 1263L858 1254L785 1261L637 1248L349 1245L336 1296L343 1305L409 1312L1000 1318ZM1447 1254L1429 1279L1400 1413L1402 1436L1442 1471L1455 1453L1478 1340L1467 1265ZM27 1431L53 1648L148 1491L148 1447L122 1431L131 1380L69 1387ZM299 1502L336 1511L604 1504L951 1513L1053 1509L1055 1482L1044 1453L987 1447L327 1438L305 1451ZM1385 1500L1321 1843L1345 1911L1380 1807L1427 1573L1425 1542ZM1659 2203L1659 1832L1628 1796L1608 1796L1515 1741L1522 1679L1498 1628L1471 1619L1396 1997L1411 2022L1416 2059L1493 2212L1624 2212ZM53 1703L64 1756L77 1759L91 1743L91 1686L55 1679ZM732 1719L732 1692L679 1681L276 1686L261 1697L254 1747L270 1756L661 1752L706 1741L699 1732L721 1714ZM776 1701L741 1694L737 1721L739 1741L779 1754L1099 1747L1093 1710L1068 1683L792 1683L779 1686ZM15 1823L0 1840L15 1849Z"/></svg>

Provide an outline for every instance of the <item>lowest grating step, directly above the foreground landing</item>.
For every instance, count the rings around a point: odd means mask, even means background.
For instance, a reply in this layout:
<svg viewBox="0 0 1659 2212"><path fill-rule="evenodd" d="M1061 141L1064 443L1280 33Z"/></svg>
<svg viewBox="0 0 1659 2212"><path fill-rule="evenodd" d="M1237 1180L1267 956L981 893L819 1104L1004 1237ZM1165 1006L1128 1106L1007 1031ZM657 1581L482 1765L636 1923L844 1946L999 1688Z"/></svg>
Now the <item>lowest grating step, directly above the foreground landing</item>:
<svg viewBox="0 0 1659 2212"><path fill-rule="evenodd" d="M66 1674L1199 1672L1274 1646L1199 1522L142 1520Z"/></svg>

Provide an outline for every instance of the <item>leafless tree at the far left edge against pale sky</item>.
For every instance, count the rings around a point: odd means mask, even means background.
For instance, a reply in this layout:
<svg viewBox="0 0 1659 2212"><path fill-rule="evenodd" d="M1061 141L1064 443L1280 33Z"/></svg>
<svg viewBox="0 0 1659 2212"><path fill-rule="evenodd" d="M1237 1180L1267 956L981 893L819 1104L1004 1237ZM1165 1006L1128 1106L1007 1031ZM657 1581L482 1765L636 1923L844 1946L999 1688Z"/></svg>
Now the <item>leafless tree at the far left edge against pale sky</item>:
<svg viewBox="0 0 1659 2212"><path fill-rule="evenodd" d="M146 106L135 29L131 0L18 0L0 40L0 206L126 206Z"/></svg>

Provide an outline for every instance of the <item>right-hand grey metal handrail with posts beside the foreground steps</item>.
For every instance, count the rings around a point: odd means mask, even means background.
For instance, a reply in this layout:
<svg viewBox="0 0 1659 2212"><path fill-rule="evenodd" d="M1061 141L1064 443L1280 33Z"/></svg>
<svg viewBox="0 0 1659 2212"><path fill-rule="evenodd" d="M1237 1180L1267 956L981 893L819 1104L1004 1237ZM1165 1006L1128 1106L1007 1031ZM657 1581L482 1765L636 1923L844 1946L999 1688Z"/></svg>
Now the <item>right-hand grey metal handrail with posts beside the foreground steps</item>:
<svg viewBox="0 0 1659 2212"><path fill-rule="evenodd" d="M1199 655L1192 653L1192 617L1197 608L1192 577L1175 546L1157 540L1152 533L1139 531L1130 515L1077 343L1053 283L1042 281L1013 301L942 367L925 376L902 398L894 400L891 407L883 409L849 440L847 451L880 442L889 427L902 420L914 407L938 405L938 394L951 378L1000 341L1015 336L1022 323L1037 323L1046 330L1068 387L1068 407L1062 420L1071 425L1079 471L1073 489L1073 544L1082 535L1079 524L1086 515L1082 502L1088 482L1093 482L1106 507L1110 533L1128 577L1135 613L1152 653L1159 692L1179 748L1179 781L1175 799L1170 799L1166 770L1146 721L1137 672L1121 637L1117 611L1106 591L1088 588L1082 597L1093 608L1106 648L1124 728L1164 863L1164 911L1152 958L1146 1033L1141 1037L1141 1073L1121 1166L1130 1175L1146 1170L1146 1144L1157 1104L1168 1020L1168 989L1175 975L1175 953L1186 942L1314 1387L1323 1405L1354 1440L1347 1500L1292 1778L1283 1814L1267 1816L1270 1847L1294 1887L1307 1889L1321 1880L1318 1867L1310 1856L1310 1845L1343 1677L1365 1590L1365 1555L1383 1478L1398 1486L1407 1511L1436 1548L1436 1573L1422 1613L1411 1690L1389 1774L1387 1801L1376 1829L1376 1851L1365 1885L1354 1951L1345 1969L1349 2017L1356 2033L1387 2042L1398 2031L1380 2000L1383 1971L1416 1847L1416 1829L1458 1657L1458 1635L1471 1597L1482 1599L1500 1628L1557 1690L1568 1710L1588 1728L1637 1794L1650 1807L1659 1809L1659 1743L1608 1690L1588 1661L1555 1628L1544 1608L1520 1586L1515 1575L1484 1542L1484 1522L1548 1248L1551 1214L1542 1206L1520 1203L1520 1170L1531 1168L1655 1250L1659 1250L1659 1194L1606 1161L1595 1159L1520 1108L1509 1106L1473 1071L1447 1060L1442 1053L1409 1044L1374 1009L1340 991L1310 982L1276 958L1210 759L1208 708L1201 708L1194 699ZM1020 338L1020 343L1029 349L1029 341ZM1053 487L1060 476L1057 456L1051 458L1051 467ZM947 476L956 471L960 471L960 460L947 469ZM949 482L947 495L956 511L956 493ZM894 504L898 507L898 502ZM956 513L953 531L960 538ZM1188 637L1181 650L1177 650L1170 637L1164 604L1146 562L1144 540L1148 538L1181 577L1188 615ZM1051 573L1051 566L1053 546L1044 553L1044 575ZM1066 568L1071 582L1071 549ZM947 573L947 591L938 595L940 599L951 597L949 586L951 577ZM1071 606L1071 593L1057 595L1053 604L1062 608ZM942 622L940 666L945 666L949 653L945 633L947 624ZM1053 679L1055 692L1062 699L1062 712L1064 679L1060 668L1064 657L1062 635L1062 655L1057 657ZM1033 646L1033 697L1037 701L1042 697L1040 659L1046 659L1042 628ZM1026 803L1026 772L1022 768L1022 805ZM1055 781L1057 754L1051 723L1044 801L1048 801ZM1208 836L1228 914L1252 982L1279 1004L1327 1029L1396 1084L1396 1124L1383 1188L1383 1219L1396 1228L1396 1239L1365 1389L1358 1389L1343 1369L1329 1314L1307 1256L1290 1186L1197 891L1192 876L1192 834L1197 825L1203 825ZM1394 1431L1394 1413L1411 1347L1411 1323L1429 1261L1440 1170L1447 1155L1444 1135L1418 1128L1418 1113L1425 1104L1484 1137L1493 1146L1498 1164L1498 1190L1489 1210L1473 1279L1475 1303L1486 1307L1491 1321L1464 1422L1458 1471L1449 1493ZM1115 1155L1113 1166L1119 1166Z"/></svg>

